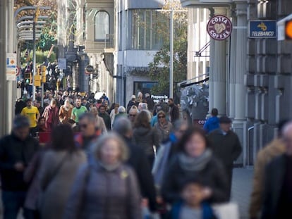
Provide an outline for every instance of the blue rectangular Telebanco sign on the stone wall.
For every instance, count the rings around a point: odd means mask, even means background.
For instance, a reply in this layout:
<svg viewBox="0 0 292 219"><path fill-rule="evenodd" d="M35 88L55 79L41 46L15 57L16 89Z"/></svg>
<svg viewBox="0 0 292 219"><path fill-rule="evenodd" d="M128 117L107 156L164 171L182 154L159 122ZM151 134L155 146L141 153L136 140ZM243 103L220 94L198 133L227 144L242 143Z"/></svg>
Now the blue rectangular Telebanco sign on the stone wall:
<svg viewBox="0 0 292 219"><path fill-rule="evenodd" d="M276 38L276 20L250 20L250 38Z"/></svg>

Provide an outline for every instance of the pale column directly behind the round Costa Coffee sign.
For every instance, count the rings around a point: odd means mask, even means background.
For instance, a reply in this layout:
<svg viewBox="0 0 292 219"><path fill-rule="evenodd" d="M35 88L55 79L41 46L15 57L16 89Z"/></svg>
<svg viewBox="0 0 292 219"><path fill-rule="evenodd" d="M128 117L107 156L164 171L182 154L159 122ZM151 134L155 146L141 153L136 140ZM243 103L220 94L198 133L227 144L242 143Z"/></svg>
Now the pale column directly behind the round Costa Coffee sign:
<svg viewBox="0 0 292 219"><path fill-rule="evenodd" d="M226 8L215 8L215 15L227 15ZM212 39L213 40L213 39ZM214 40L214 64L210 75L213 82L213 107L220 115L226 114L226 40Z"/></svg>

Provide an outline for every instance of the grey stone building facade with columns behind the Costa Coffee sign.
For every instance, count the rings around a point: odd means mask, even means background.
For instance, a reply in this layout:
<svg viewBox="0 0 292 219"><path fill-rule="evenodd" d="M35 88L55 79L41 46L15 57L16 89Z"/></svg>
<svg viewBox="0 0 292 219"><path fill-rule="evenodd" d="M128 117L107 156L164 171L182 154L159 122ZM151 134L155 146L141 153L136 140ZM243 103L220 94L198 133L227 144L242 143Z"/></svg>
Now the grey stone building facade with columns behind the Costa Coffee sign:
<svg viewBox="0 0 292 219"><path fill-rule="evenodd" d="M253 20L280 20L292 13L288 0L181 0L185 7L226 15L233 31L224 41L210 40L209 110L233 118L243 144L238 163L253 165L257 151L276 135L276 125L292 117L291 43L249 38Z"/></svg>

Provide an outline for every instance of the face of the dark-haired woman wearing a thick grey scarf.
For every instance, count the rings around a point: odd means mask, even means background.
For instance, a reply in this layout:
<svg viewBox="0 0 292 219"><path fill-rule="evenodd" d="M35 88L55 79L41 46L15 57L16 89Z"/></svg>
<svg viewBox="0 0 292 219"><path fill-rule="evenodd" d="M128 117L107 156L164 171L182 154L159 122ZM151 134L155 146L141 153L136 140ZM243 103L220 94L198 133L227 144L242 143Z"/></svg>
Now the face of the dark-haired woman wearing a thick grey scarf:
<svg viewBox="0 0 292 219"><path fill-rule="evenodd" d="M185 152L188 156L197 157L206 149L205 139L200 134L193 134L185 144Z"/></svg>

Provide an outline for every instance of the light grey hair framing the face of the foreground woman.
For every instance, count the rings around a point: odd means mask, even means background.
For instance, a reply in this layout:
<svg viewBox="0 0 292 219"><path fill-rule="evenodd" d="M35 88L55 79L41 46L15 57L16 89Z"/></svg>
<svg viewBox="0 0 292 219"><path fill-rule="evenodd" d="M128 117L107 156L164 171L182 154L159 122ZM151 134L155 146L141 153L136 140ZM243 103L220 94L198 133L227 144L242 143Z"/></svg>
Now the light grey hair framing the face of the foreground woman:
<svg viewBox="0 0 292 219"><path fill-rule="evenodd" d="M92 142L92 145L90 146L90 151L93 157L96 158L97 160L100 160L102 147L109 140L114 140L118 143L119 149L121 151L119 161L121 162L127 161L128 148L126 146L126 143L123 141L123 139L121 139L121 137L118 136L118 134L115 134L114 132L108 132L107 134L104 134L101 137L99 137L95 142Z"/></svg>

